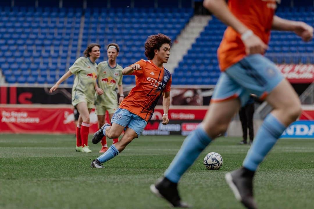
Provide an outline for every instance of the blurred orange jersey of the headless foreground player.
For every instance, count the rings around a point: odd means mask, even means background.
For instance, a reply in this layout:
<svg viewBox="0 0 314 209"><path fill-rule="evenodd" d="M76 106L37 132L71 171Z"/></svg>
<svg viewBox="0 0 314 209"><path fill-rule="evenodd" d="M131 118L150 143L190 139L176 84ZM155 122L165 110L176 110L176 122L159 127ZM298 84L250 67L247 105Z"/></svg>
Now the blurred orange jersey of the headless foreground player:
<svg viewBox="0 0 314 209"><path fill-rule="evenodd" d="M276 0L229 0L228 7L236 18L268 44ZM221 71L246 56L241 35L230 26L225 30L217 55Z"/></svg>

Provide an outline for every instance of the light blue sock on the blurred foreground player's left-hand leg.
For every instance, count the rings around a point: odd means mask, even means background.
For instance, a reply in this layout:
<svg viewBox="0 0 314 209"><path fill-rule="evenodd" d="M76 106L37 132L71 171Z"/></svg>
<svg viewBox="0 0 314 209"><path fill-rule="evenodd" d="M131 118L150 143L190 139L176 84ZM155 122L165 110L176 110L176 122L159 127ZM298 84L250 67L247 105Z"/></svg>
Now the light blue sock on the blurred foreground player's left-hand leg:
<svg viewBox="0 0 314 209"><path fill-rule="evenodd" d="M211 141L211 138L201 126L192 131L165 171L165 177L174 183L178 183L183 173L194 163L198 155Z"/></svg>

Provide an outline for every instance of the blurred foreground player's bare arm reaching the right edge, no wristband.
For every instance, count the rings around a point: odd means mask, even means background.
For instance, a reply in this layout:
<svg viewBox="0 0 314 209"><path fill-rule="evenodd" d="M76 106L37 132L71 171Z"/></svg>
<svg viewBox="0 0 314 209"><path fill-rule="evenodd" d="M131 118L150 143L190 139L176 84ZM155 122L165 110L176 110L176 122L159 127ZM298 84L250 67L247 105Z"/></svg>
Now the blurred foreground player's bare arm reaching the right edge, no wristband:
<svg viewBox="0 0 314 209"><path fill-rule="evenodd" d="M313 38L313 27L301 21L292 21L274 16L272 29L293 31L304 41L310 41Z"/></svg>

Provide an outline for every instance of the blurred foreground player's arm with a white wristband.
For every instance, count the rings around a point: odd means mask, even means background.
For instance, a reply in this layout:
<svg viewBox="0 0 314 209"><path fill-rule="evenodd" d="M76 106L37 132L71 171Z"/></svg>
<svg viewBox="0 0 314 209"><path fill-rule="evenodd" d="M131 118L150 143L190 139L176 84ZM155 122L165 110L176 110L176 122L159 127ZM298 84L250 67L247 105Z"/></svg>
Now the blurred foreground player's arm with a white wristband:
<svg viewBox="0 0 314 209"><path fill-rule="evenodd" d="M203 5L218 19L241 34L247 55L263 54L267 49L268 46L230 12L225 0L204 0Z"/></svg>

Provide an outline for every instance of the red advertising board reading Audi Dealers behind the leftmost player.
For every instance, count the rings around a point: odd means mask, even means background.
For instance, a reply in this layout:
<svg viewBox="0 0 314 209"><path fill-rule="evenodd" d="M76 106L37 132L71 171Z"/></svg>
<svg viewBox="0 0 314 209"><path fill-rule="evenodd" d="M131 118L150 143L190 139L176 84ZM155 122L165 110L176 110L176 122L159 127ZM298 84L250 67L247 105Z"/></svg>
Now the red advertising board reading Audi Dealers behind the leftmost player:
<svg viewBox="0 0 314 209"><path fill-rule="evenodd" d="M0 132L75 133L71 108L0 107ZM98 130L97 116L90 113L89 133Z"/></svg>

